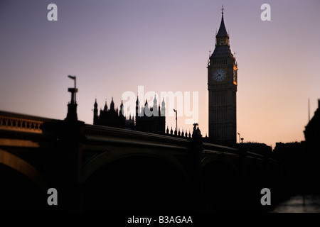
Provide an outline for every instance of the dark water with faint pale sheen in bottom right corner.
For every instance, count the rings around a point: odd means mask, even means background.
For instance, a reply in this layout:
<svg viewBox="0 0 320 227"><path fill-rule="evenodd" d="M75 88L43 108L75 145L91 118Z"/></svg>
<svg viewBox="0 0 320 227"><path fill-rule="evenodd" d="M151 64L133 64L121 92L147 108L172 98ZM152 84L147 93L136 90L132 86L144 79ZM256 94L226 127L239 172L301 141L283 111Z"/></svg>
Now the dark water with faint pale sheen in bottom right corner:
<svg viewBox="0 0 320 227"><path fill-rule="evenodd" d="M279 203L272 213L320 213L320 195L302 194Z"/></svg>

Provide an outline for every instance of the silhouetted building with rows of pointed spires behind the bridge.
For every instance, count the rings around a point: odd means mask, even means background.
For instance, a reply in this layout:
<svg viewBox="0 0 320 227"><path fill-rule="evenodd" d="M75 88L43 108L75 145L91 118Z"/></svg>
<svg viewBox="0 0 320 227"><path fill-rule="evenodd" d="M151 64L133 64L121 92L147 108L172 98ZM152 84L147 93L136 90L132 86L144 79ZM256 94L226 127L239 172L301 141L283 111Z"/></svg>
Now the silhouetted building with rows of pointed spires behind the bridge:
<svg viewBox="0 0 320 227"><path fill-rule="evenodd" d="M166 129L166 104L164 100L160 106L157 105L156 97L154 97L154 105L149 107L146 101L144 106L140 106L139 98L136 101L136 116L124 116L123 103L120 105L120 111L114 109L114 101L112 98L110 109L108 109L107 101L104 109L100 109L98 115L97 99L95 100L93 109L93 124L99 126L110 126L114 128L127 128L135 131L143 131L146 133L164 134Z"/></svg>

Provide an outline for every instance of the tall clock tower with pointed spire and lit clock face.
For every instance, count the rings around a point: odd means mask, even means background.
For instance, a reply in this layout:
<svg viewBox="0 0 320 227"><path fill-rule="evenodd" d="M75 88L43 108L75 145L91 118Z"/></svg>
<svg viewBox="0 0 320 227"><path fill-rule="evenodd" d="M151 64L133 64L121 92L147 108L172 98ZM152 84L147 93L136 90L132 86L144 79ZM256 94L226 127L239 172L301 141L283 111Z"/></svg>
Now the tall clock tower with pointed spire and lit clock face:
<svg viewBox="0 0 320 227"><path fill-rule="evenodd" d="M215 50L208 60L210 143L233 146L237 141L237 85L238 65L230 50L222 9Z"/></svg>

